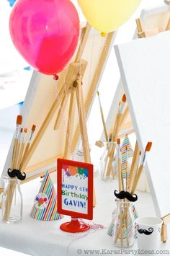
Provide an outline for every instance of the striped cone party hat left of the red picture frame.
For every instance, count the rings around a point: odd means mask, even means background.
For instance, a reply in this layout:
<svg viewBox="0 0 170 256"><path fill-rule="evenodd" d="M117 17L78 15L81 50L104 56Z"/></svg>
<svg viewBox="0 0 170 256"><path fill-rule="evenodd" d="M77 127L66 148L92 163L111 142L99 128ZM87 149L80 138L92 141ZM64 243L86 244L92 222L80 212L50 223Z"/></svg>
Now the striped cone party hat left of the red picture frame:
<svg viewBox="0 0 170 256"><path fill-rule="evenodd" d="M63 216L57 212L57 195L48 171L42 181L30 216L39 221L54 221Z"/></svg>

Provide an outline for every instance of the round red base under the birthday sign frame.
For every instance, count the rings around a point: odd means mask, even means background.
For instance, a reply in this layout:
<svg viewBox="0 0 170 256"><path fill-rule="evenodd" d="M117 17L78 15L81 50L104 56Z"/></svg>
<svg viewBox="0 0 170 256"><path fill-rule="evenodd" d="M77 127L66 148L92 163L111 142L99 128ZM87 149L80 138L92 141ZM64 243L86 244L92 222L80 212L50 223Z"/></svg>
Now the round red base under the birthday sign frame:
<svg viewBox="0 0 170 256"><path fill-rule="evenodd" d="M71 221L61 224L60 229L68 233L80 233L88 231L90 226L79 221L79 219L71 217Z"/></svg>

